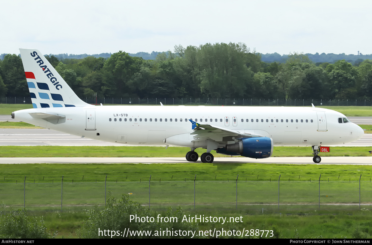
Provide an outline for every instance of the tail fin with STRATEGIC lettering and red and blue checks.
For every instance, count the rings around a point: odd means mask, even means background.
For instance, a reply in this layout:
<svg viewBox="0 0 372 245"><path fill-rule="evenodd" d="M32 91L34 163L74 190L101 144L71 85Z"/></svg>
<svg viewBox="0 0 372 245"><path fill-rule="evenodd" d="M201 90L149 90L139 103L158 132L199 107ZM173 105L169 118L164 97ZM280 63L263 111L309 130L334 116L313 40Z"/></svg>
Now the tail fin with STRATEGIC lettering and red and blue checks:
<svg viewBox="0 0 372 245"><path fill-rule="evenodd" d="M33 108L90 106L67 85L37 49L19 49Z"/></svg>

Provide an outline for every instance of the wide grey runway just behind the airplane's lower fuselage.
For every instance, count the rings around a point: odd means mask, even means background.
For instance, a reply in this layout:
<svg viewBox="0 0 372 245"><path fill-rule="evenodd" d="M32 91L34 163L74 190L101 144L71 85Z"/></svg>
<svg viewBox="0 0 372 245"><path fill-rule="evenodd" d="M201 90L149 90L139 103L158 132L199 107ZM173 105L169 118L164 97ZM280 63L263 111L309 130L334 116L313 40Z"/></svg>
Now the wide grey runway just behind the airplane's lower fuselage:
<svg viewBox="0 0 372 245"><path fill-rule="evenodd" d="M125 146L61 133L51 129L0 129L0 146ZM129 146L129 145L126 145ZM334 146L372 146L372 134L365 133L358 141Z"/></svg>

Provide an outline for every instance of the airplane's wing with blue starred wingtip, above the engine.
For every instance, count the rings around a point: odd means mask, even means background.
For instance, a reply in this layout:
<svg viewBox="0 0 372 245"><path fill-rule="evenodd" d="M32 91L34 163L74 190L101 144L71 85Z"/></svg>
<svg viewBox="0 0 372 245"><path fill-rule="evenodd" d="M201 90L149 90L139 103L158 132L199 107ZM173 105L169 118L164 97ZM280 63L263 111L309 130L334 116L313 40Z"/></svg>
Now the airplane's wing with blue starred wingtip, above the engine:
<svg viewBox="0 0 372 245"><path fill-rule="evenodd" d="M193 120L189 121L192 123L192 129L194 130L192 133L190 133L191 135L194 135L194 139L192 141L204 141L206 139L212 139L213 141L219 142L234 141L234 139L239 138L264 137L263 135L230 130L210 124L199 124Z"/></svg>

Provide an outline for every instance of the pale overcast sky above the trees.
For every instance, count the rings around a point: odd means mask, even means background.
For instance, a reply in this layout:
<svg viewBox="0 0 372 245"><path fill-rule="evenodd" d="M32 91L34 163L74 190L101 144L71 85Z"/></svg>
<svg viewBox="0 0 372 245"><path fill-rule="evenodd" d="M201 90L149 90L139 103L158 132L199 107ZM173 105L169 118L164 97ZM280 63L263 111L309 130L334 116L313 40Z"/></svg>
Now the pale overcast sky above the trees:
<svg viewBox="0 0 372 245"><path fill-rule="evenodd" d="M372 54L367 0L0 0L0 54L137 53L243 42L266 54Z"/></svg>

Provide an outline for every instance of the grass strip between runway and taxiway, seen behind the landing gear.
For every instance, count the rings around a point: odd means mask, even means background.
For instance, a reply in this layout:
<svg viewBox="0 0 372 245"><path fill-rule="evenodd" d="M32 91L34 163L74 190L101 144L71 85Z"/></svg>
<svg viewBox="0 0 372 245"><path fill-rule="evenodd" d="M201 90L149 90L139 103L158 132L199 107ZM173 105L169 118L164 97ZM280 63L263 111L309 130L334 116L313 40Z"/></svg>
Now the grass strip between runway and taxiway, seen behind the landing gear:
<svg viewBox="0 0 372 245"><path fill-rule="evenodd" d="M336 146L321 157L368 157L370 146ZM188 148L162 146L1 146L0 157L185 157ZM195 150L199 156L205 149ZM215 157L230 157L214 153ZM240 156L239 156L240 157ZM312 157L311 147L274 146L273 157Z"/></svg>

